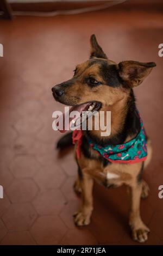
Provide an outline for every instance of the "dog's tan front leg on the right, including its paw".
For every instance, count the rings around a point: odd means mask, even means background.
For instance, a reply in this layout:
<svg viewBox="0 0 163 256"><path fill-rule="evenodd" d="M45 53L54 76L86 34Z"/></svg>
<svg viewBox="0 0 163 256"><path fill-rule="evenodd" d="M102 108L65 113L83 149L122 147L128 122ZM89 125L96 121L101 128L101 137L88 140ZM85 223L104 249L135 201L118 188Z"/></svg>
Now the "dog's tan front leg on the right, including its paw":
<svg viewBox="0 0 163 256"><path fill-rule="evenodd" d="M130 187L130 216L129 224L133 239L138 242L145 242L148 239L149 229L142 222L140 217L140 198L142 193L142 182L135 182Z"/></svg>

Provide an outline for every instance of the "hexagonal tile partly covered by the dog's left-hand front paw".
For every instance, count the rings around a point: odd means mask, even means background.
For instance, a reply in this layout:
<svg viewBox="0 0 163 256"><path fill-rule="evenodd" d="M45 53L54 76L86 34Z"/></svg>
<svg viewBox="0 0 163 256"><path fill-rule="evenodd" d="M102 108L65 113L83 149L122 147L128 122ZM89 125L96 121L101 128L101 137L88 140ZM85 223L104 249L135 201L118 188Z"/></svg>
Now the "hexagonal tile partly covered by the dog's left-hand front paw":
<svg viewBox="0 0 163 256"><path fill-rule="evenodd" d="M59 215L61 220L64 221L66 226L70 229L73 229L76 227L73 221L73 214L79 209L79 206L80 206L80 203L78 202L78 200L68 201Z"/></svg>

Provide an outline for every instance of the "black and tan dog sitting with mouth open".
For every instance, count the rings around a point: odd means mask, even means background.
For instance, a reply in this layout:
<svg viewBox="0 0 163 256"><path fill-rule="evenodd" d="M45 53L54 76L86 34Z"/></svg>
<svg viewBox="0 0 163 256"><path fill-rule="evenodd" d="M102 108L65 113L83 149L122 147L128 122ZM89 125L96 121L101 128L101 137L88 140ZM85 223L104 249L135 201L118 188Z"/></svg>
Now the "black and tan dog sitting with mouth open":
<svg viewBox="0 0 163 256"><path fill-rule="evenodd" d="M133 164L110 163L93 150L87 137L101 147L117 145L130 141L140 131L140 119L137 116L133 87L139 86L149 75L155 63L124 61L116 64L108 59L98 45L95 35L91 36L91 56L86 62L77 65L72 79L52 88L55 100L73 110L111 111L111 134L101 137L101 130L83 131L81 154L78 162L78 179L74 188L82 192L82 208L74 214L77 225L87 225L93 210L93 181L109 187L125 184L130 191L129 225L133 239L145 242L149 229L140 216L140 198L148 196L148 185L142 180L143 168L151 159L152 148L147 139L148 156L143 162ZM58 142L58 148L71 143L72 134L64 136Z"/></svg>

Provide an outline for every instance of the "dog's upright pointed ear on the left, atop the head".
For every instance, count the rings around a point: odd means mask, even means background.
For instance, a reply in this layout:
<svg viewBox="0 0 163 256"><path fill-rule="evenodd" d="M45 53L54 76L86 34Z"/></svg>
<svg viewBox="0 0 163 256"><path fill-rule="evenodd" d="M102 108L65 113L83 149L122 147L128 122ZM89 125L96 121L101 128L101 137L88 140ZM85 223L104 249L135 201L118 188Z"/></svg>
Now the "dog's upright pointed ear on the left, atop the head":
<svg viewBox="0 0 163 256"><path fill-rule="evenodd" d="M102 48L99 46L96 36L93 34L91 35L91 55L90 58L103 58L103 59L108 59L106 54L103 52Z"/></svg>

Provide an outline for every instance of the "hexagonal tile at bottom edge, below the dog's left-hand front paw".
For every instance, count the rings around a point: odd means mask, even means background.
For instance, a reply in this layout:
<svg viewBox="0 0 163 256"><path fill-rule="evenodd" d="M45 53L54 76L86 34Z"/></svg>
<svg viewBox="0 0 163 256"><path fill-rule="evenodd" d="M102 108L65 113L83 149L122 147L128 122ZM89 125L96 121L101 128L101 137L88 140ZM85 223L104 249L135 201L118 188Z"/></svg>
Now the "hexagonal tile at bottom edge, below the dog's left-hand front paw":
<svg viewBox="0 0 163 256"><path fill-rule="evenodd" d="M96 238L86 229L68 230L60 245L97 245Z"/></svg>

